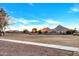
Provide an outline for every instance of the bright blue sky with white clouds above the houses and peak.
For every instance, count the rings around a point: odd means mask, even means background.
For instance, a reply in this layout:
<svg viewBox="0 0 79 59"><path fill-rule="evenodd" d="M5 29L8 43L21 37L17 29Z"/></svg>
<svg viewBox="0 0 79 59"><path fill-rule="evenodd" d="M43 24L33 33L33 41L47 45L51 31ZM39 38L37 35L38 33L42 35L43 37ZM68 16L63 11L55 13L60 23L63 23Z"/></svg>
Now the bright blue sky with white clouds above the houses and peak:
<svg viewBox="0 0 79 59"><path fill-rule="evenodd" d="M10 18L7 30L31 31L57 25L79 30L78 3L0 3Z"/></svg>

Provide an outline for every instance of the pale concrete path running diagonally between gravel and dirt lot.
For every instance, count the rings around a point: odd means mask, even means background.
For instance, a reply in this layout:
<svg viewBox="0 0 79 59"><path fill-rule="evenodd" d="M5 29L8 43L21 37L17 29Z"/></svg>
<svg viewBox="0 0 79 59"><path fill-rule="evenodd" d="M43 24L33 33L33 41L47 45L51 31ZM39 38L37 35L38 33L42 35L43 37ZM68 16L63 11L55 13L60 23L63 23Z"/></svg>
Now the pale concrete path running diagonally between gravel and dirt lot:
<svg viewBox="0 0 79 59"><path fill-rule="evenodd" d="M54 44L44 44L44 43L35 43L35 42L19 41L19 40L11 40L11 39L0 39L0 40L1 41L14 42L14 43L30 44L30 45L37 45L37 46L43 46L43 47L49 47L49 48L57 48L57 49L62 49L62 50L79 52L79 48L77 48L77 47L69 47L69 46L54 45Z"/></svg>

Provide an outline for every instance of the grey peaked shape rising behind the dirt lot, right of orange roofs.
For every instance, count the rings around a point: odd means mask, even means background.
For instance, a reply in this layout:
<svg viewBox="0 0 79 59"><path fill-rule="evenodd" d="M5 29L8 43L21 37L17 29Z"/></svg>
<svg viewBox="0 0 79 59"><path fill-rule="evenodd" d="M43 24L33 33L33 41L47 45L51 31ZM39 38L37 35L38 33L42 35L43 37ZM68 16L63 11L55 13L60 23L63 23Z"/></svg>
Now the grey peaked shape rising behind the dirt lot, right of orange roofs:
<svg viewBox="0 0 79 59"><path fill-rule="evenodd" d="M58 25L56 28L51 29L50 34L66 34L68 30L68 28Z"/></svg>

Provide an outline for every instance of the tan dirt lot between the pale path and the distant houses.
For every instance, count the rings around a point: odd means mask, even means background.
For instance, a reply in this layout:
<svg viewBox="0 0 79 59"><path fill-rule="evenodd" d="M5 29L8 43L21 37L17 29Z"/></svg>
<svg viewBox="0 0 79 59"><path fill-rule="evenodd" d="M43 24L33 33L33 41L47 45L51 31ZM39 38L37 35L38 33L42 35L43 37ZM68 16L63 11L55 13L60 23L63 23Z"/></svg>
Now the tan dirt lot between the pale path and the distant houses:
<svg viewBox="0 0 79 59"><path fill-rule="evenodd" d="M0 38L79 47L79 36L73 35L28 35L11 33Z"/></svg>

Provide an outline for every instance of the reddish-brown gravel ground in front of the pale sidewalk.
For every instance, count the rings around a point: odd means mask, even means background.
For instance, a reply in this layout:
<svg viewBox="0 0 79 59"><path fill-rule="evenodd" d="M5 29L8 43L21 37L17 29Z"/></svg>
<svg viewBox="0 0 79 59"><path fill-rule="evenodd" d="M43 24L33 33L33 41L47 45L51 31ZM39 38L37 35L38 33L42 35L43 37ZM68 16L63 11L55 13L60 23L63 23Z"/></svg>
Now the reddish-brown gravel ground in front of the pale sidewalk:
<svg viewBox="0 0 79 59"><path fill-rule="evenodd" d="M79 56L78 52L0 41L0 56Z"/></svg>

